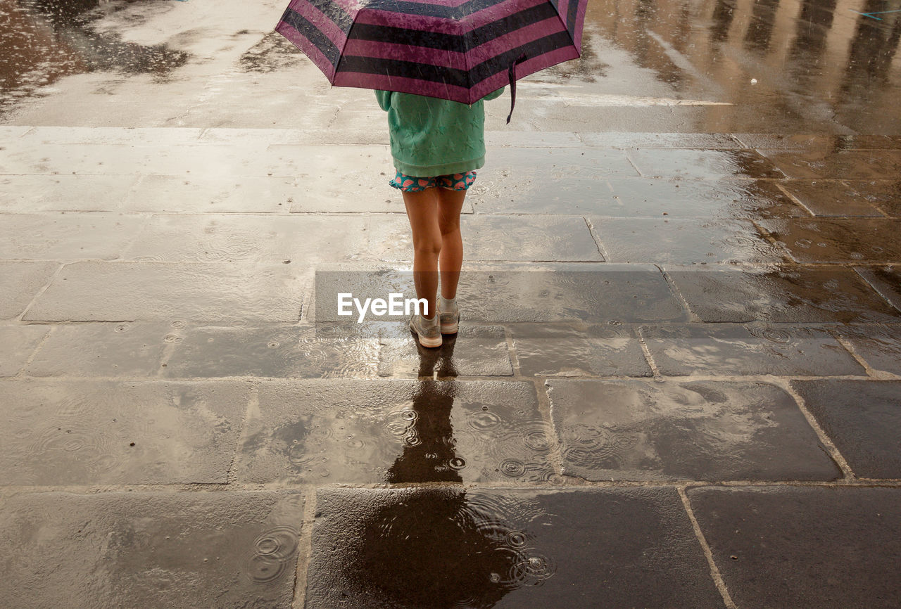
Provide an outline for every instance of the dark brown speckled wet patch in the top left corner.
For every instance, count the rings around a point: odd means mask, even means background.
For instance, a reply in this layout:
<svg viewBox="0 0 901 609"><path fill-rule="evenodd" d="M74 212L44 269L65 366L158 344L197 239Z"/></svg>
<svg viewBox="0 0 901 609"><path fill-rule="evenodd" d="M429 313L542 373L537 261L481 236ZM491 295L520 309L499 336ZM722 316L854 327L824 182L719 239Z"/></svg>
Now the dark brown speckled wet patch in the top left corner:
<svg viewBox="0 0 901 609"><path fill-rule="evenodd" d="M122 40L117 31L96 31L91 22L99 0L23 0L0 7L0 113L29 97L47 93L42 87L62 76L89 72L150 74L165 82L190 55L163 44L141 45ZM112 10L126 3L115 3ZM168 3L157 2L168 8Z"/></svg>

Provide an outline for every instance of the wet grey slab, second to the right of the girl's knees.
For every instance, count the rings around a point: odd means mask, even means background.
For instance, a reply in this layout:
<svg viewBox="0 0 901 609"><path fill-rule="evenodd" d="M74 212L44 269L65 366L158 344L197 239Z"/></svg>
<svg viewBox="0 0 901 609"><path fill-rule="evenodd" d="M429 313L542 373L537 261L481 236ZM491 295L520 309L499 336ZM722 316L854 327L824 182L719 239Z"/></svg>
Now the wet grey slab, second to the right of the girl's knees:
<svg viewBox="0 0 901 609"><path fill-rule="evenodd" d="M610 262L773 264L786 253L748 220L588 216Z"/></svg>

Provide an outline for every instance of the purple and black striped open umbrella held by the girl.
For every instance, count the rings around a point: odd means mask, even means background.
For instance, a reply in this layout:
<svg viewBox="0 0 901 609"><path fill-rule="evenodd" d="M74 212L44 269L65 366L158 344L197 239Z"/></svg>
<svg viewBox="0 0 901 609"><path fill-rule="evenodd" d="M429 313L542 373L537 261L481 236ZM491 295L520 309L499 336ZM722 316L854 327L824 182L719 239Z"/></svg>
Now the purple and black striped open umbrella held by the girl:
<svg viewBox="0 0 901 609"><path fill-rule="evenodd" d="M587 0L291 0L276 31L332 85L473 103L578 58ZM524 57L523 57L524 56Z"/></svg>

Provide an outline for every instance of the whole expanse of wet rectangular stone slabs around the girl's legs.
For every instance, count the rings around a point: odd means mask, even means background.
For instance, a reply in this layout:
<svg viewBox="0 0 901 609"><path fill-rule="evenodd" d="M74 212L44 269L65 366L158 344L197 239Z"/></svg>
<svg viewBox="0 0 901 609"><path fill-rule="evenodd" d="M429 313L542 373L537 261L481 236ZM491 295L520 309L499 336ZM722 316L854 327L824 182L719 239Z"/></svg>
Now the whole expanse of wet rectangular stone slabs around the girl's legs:
<svg viewBox="0 0 901 609"><path fill-rule="evenodd" d="M787 176L809 140L762 135L493 142L598 175L519 181L514 209L485 172L464 324L432 350L337 314L341 291L412 294L393 193L287 197L294 145L252 130L3 133L14 606L894 604L899 220L858 194L893 178L820 199Z"/></svg>

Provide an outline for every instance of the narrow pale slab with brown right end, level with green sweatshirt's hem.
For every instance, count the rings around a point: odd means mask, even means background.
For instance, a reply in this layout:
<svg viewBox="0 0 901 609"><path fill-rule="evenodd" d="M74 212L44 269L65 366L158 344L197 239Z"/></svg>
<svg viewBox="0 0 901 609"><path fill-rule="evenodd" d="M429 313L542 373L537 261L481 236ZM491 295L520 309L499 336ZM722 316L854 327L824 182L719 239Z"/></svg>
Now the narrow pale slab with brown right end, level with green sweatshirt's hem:
<svg viewBox="0 0 901 609"><path fill-rule="evenodd" d="M785 177L754 150L629 150L642 175L689 179Z"/></svg>

